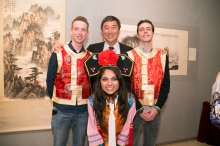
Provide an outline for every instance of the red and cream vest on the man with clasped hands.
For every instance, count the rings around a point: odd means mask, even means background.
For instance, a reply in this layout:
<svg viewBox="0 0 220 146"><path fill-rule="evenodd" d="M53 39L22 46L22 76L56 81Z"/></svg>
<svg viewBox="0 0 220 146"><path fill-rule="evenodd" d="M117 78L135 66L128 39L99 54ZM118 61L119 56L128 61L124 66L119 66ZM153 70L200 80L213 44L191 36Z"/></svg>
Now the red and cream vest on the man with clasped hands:
<svg viewBox="0 0 220 146"><path fill-rule="evenodd" d="M128 55L135 62L132 89L143 105L155 105L164 77L165 56L157 49L153 49L151 53L143 53L139 48L129 51Z"/></svg>

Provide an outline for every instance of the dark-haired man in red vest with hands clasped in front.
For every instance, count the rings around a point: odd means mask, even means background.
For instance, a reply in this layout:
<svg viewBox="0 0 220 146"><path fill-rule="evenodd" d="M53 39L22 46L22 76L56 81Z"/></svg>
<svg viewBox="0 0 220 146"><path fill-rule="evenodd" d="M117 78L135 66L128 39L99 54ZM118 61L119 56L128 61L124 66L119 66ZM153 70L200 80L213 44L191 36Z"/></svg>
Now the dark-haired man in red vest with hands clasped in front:
<svg viewBox="0 0 220 146"><path fill-rule="evenodd" d="M144 146L154 146L161 121L161 109L170 90L169 61L166 54L153 48L154 25L149 20L137 24L139 46L127 52L135 62L131 77L132 89L144 106L134 118L134 141L138 145L140 129L144 128ZM141 117L142 112L147 116ZM140 115L139 115L140 114Z"/></svg>

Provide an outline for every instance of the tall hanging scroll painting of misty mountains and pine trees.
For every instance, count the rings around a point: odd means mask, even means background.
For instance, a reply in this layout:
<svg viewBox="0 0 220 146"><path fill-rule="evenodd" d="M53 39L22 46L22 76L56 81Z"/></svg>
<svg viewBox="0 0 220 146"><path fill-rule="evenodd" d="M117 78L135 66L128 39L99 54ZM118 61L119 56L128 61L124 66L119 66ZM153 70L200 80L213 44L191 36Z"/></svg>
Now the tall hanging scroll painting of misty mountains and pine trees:
<svg viewBox="0 0 220 146"><path fill-rule="evenodd" d="M64 42L65 1L1 3L0 133L50 128L46 74L53 44Z"/></svg>

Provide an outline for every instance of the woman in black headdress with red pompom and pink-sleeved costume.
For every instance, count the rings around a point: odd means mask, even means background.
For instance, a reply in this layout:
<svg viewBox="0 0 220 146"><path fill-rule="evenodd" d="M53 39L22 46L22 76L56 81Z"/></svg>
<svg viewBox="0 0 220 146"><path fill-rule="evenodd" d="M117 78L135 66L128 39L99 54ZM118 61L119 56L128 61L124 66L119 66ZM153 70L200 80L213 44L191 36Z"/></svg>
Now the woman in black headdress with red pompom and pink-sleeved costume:
<svg viewBox="0 0 220 146"><path fill-rule="evenodd" d="M95 91L88 103L89 145L132 145L135 100L127 92L122 75L131 73L133 62L125 55L117 56L107 50L90 56L85 66L90 76L97 75Z"/></svg>

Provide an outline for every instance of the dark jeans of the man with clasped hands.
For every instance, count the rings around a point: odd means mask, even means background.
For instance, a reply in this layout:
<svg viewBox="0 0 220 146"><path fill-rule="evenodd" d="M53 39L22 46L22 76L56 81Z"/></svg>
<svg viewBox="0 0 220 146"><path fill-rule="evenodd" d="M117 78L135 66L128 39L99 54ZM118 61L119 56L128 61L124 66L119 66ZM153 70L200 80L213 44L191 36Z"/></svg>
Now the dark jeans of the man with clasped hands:
<svg viewBox="0 0 220 146"><path fill-rule="evenodd" d="M133 146L139 146L139 136L141 128L144 128L144 146L155 146L157 133L160 126L161 113L153 121L145 122L140 115L134 117L133 122Z"/></svg>

